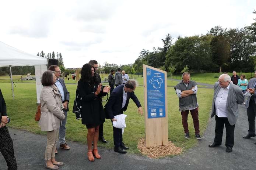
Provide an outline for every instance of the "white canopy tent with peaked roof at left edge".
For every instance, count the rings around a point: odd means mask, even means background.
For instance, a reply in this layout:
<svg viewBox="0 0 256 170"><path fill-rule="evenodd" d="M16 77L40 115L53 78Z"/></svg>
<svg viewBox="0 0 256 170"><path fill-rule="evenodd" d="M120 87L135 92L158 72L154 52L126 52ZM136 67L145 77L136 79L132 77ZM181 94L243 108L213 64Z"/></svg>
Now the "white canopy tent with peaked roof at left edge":
<svg viewBox="0 0 256 170"><path fill-rule="evenodd" d="M35 66L36 76L36 96L37 103L42 91L41 76L47 70L47 59L36 55L25 53L17 48L8 46L0 41L0 67L10 67L11 87L14 100L13 77L11 67L15 66Z"/></svg>

